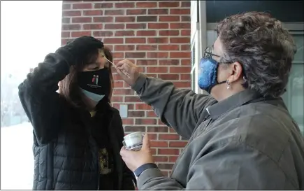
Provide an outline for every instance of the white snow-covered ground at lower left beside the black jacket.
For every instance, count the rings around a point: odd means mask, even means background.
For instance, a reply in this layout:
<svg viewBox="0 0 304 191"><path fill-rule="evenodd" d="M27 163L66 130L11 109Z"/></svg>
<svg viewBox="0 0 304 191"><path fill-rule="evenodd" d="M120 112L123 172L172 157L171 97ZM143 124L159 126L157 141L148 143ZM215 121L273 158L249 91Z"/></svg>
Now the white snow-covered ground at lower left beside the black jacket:
<svg viewBox="0 0 304 191"><path fill-rule="evenodd" d="M34 177L31 123L1 127L1 190L31 190Z"/></svg>

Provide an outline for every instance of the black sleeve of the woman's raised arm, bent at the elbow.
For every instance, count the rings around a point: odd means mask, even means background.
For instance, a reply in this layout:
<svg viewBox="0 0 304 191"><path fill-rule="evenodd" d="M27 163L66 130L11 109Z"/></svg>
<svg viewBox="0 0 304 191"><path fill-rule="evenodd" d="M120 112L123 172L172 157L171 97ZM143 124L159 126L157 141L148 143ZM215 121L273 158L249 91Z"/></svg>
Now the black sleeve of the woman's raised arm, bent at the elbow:
<svg viewBox="0 0 304 191"><path fill-rule="evenodd" d="M54 139L62 124L64 99L56 91L59 81L68 73L66 59L52 53L18 87L21 104L34 127L38 145Z"/></svg>

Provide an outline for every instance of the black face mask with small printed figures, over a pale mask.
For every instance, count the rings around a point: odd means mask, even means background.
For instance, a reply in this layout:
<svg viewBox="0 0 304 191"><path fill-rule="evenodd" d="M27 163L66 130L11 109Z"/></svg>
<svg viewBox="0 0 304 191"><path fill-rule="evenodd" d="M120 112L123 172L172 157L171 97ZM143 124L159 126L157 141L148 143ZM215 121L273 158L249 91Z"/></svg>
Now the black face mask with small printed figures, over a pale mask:
<svg viewBox="0 0 304 191"><path fill-rule="evenodd" d="M78 85L82 92L96 102L110 94L110 73L104 68L96 71L78 73Z"/></svg>

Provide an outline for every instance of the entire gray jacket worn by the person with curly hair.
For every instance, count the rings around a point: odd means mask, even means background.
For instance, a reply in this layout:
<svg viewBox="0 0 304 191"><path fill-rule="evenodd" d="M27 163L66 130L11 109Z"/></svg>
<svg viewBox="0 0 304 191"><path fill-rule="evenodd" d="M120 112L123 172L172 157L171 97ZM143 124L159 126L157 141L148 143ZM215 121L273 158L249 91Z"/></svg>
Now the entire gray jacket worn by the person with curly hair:
<svg viewBox="0 0 304 191"><path fill-rule="evenodd" d="M282 99L245 90L217 103L143 74L132 88L189 139L171 177L147 169L140 190L304 190L304 140Z"/></svg>

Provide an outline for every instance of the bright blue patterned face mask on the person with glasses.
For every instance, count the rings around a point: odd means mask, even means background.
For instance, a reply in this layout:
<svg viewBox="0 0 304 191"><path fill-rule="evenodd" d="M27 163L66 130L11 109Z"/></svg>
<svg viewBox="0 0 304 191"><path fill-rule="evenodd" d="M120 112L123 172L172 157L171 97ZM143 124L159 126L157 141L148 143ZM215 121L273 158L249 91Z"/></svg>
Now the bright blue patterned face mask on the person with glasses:
<svg viewBox="0 0 304 191"><path fill-rule="evenodd" d="M201 73L198 76L198 87L201 90L207 91L209 94L211 92L212 87L218 84L226 83L225 81L217 82L217 68L219 63L215 61L215 59L203 58L201 59Z"/></svg>

